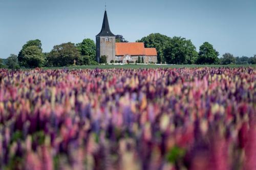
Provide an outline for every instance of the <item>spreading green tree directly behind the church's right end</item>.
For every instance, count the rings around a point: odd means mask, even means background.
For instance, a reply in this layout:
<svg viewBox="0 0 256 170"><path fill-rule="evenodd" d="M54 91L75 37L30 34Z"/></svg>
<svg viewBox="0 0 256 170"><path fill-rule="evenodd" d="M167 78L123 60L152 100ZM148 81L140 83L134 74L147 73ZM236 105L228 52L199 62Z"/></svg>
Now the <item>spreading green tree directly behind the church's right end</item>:
<svg viewBox="0 0 256 170"><path fill-rule="evenodd" d="M157 61L158 63L163 63L165 62L163 51L167 47L171 39L172 38L167 37L166 35L156 33L143 37L141 40L137 40L136 42L144 42L144 45L147 48L156 48Z"/></svg>

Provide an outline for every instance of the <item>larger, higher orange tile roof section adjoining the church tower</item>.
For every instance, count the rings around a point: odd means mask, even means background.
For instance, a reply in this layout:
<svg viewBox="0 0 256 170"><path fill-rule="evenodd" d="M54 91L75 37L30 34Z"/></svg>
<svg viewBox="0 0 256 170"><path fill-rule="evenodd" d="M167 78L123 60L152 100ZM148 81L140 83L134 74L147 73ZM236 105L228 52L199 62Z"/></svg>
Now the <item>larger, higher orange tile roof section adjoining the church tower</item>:
<svg viewBox="0 0 256 170"><path fill-rule="evenodd" d="M143 42L116 42L116 56L144 56L145 48Z"/></svg>

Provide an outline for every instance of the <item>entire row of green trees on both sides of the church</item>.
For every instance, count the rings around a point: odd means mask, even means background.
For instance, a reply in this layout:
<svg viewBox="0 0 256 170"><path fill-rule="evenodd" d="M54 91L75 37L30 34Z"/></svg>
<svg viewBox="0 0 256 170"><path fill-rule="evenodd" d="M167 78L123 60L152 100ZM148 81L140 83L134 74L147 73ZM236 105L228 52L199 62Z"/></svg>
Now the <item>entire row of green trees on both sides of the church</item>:
<svg viewBox="0 0 256 170"><path fill-rule="evenodd" d="M122 35L116 36L116 42L128 42ZM150 34L136 42L144 42L145 47L155 47L158 63L167 64L256 64L253 57L234 57L230 53L219 58L219 52L209 42L204 42L197 52L191 40L183 37L168 37L159 33ZM70 65L97 65L96 45L91 39L84 39L74 44L71 42L54 45L49 53L42 53L41 41L30 40L22 46L16 56L11 54L5 60L0 59L0 67L35 68L61 67ZM100 63L106 63L106 56L101 56ZM114 63L114 61L112 62ZM137 63L143 63L143 58Z"/></svg>

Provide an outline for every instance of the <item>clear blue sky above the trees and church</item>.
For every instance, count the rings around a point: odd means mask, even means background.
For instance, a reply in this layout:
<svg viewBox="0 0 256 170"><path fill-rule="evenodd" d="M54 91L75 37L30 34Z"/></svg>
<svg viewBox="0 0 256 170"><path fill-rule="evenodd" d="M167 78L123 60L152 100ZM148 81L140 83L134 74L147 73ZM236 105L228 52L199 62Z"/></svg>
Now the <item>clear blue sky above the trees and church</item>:
<svg viewBox="0 0 256 170"><path fill-rule="evenodd" d="M105 0L0 0L0 58L31 39L44 52L63 42L95 41ZM134 42L150 34L208 41L220 54L256 54L255 0L106 0L111 31Z"/></svg>

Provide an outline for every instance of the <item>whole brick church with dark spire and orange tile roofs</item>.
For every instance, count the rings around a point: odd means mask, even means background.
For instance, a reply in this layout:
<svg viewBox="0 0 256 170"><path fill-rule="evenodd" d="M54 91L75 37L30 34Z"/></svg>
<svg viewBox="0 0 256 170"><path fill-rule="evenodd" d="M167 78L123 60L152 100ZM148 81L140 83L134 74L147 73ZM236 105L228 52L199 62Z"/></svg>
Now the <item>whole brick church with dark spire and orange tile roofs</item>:
<svg viewBox="0 0 256 170"><path fill-rule="evenodd" d="M156 48L145 48L143 42L116 42L116 36L110 31L108 15L104 13L101 31L96 35L96 58L106 56L107 63L135 63L139 57L144 63L157 63Z"/></svg>

